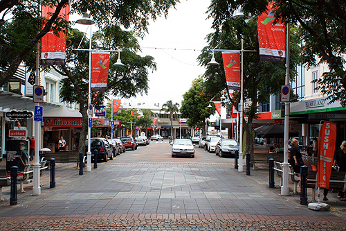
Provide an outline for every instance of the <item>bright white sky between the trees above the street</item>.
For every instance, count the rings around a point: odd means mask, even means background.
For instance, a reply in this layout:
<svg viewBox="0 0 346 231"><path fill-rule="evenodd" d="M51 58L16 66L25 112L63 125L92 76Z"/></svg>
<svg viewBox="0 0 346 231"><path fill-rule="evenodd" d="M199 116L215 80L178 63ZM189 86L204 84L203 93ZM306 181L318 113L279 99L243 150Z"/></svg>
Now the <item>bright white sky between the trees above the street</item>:
<svg viewBox="0 0 346 231"><path fill-rule="evenodd" d="M212 20L206 20L205 13L209 5L210 0L181 0L176 9L170 9L167 19L161 17L150 22L148 34L143 40L139 39L143 51L140 55L153 56L157 71L149 73L148 94L126 102L161 106L172 100L181 105L192 80L205 71L199 67L197 57L207 44L206 35L212 33Z"/></svg>

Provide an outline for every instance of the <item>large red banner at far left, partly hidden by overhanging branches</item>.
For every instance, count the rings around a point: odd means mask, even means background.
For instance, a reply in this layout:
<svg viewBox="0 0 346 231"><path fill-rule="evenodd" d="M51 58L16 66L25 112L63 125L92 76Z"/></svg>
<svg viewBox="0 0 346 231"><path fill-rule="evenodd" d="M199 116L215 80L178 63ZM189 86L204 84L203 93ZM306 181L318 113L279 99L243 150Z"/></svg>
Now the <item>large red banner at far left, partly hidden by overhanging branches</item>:
<svg viewBox="0 0 346 231"><path fill-rule="evenodd" d="M51 14L55 12L55 8L51 6L42 6L42 17L51 18ZM60 10L59 17L69 21L70 5ZM59 37L49 31L41 39L41 65L64 65L66 57L66 34L60 31Z"/></svg>

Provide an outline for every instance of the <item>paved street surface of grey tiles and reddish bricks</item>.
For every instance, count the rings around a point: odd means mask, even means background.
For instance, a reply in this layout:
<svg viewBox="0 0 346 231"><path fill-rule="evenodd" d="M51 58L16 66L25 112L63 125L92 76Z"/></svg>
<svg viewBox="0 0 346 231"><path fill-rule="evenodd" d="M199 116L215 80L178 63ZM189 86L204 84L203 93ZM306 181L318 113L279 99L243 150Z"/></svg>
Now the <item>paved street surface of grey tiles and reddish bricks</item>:
<svg viewBox="0 0 346 231"><path fill-rule="evenodd" d="M346 230L346 213L280 196L265 171L246 176L231 158L201 148L194 159L172 158L170 148L152 142L83 176L75 164L57 166L57 187L47 172L40 196L30 184L18 205L0 202L0 230Z"/></svg>

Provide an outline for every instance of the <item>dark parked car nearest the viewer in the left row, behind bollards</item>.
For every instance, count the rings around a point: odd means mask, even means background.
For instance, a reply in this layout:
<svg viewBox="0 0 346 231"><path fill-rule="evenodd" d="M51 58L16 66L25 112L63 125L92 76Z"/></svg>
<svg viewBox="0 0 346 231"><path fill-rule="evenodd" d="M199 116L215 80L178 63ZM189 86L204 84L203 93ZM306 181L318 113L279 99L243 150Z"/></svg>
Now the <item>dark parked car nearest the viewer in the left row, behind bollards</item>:
<svg viewBox="0 0 346 231"><path fill-rule="evenodd" d="M88 150L88 139L85 139L85 154ZM90 151L91 151L91 160L94 158L95 150L98 151L98 160L104 160L104 162L109 159L113 160L113 147L107 139L95 137L90 139Z"/></svg>

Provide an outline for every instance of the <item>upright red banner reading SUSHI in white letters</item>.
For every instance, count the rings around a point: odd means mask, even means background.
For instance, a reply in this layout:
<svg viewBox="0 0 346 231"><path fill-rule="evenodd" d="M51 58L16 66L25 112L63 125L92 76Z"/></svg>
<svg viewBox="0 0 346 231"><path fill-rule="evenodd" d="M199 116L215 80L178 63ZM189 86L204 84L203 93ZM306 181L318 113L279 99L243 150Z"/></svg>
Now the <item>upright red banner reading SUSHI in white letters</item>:
<svg viewBox="0 0 346 231"><path fill-rule="evenodd" d="M335 144L336 123L325 121L320 128L320 134L318 135L318 187L329 189Z"/></svg>

